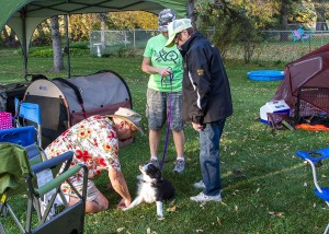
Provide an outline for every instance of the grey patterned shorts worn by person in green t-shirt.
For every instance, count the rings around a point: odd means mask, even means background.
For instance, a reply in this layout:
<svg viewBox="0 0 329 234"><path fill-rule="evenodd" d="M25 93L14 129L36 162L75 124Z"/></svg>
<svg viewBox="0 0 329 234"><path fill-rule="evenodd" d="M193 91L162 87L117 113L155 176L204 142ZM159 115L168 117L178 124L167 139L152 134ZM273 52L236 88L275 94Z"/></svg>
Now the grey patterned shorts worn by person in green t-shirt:
<svg viewBox="0 0 329 234"><path fill-rule="evenodd" d="M161 129L167 120L167 114L171 110L170 129L183 130L182 103L182 92L167 93L147 89L146 116L149 129Z"/></svg>

